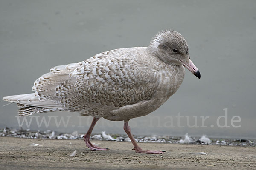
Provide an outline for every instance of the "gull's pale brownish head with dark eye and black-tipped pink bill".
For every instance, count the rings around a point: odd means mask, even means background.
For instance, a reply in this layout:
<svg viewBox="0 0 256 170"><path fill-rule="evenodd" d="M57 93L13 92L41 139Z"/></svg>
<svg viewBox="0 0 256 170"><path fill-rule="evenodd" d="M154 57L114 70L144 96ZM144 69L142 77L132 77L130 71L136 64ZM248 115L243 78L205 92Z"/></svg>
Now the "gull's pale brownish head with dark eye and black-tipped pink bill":
<svg viewBox="0 0 256 170"><path fill-rule="evenodd" d="M149 43L148 51L166 64L183 65L200 79L200 72L189 57L188 44L177 31L160 31Z"/></svg>

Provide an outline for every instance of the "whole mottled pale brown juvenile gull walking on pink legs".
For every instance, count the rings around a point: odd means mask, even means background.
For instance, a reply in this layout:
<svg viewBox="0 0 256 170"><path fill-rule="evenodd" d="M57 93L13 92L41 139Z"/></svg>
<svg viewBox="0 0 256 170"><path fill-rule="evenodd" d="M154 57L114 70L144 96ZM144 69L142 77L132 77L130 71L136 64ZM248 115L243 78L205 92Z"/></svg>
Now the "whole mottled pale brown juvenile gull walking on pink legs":
<svg viewBox="0 0 256 170"><path fill-rule="evenodd" d="M17 103L21 116L52 111L92 116L93 122L84 135L91 150L108 150L89 140L99 118L123 120L136 153L160 154L164 151L143 150L137 145L128 121L163 105L180 87L184 67L200 79L186 40L176 31L164 30L153 37L148 47L119 48L79 63L56 66L35 81L35 93L3 100Z"/></svg>

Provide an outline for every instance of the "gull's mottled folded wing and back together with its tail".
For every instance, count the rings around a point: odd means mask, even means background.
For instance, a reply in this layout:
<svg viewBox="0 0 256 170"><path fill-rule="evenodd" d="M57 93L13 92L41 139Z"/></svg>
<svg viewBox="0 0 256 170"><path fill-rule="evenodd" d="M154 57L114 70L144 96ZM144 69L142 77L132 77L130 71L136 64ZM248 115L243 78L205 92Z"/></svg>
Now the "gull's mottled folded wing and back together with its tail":
<svg viewBox="0 0 256 170"><path fill-rule="evenodd" d="M156 93L160 74L138 60L143 52L120 48L79 63L56 66L35 81L34 94L4 100L20 103L24 115L56 108L54 111L111 116L114 109L150 100Z"/></svg>

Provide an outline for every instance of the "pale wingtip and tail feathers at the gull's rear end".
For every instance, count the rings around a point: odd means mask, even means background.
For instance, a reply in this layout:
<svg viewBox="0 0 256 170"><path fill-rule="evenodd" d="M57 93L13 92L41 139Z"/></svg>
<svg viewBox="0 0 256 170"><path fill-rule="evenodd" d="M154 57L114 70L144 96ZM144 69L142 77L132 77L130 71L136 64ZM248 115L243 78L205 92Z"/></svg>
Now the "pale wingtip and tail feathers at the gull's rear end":
<svg viewBox="0 0 256 170"><path fill-rule="evenodd" d="M3 100L17 103L18 112L23 116L51 111L72 112L73 110L67 109L61 104L61 97L56 94L56 88L67 80L75 81L76 78L71 78L70 74L81 65L80 62L56 66L34 82L32 91L35 93L6 96L3 97Z"/></svg>

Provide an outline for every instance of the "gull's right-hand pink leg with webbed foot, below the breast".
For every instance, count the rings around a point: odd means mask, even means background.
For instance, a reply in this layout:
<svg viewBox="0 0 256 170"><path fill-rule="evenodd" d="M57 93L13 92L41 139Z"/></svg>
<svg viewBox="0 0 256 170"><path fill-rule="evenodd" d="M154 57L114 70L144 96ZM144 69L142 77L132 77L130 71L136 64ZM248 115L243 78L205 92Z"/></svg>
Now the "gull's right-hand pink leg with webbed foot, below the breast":
<svg viewBox="0 0 256 170"><path fill-rule="evenodd" d="M165 153L165 151L156 151L156 150L144 150L139 147L139 145L136 143L133 135L131 134L131 128L128 125L128 121L125 121L124 124L124 130L131 139L132 144L134 145L133 150L135 150L136 153L152 153L152 154L160 154L160 153Z"/></svg>

